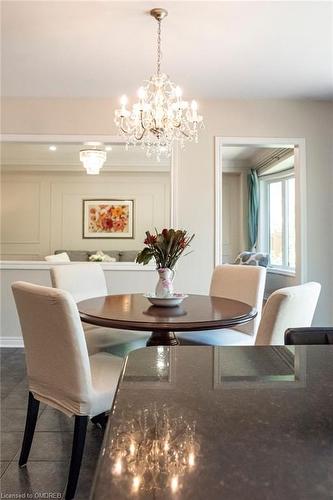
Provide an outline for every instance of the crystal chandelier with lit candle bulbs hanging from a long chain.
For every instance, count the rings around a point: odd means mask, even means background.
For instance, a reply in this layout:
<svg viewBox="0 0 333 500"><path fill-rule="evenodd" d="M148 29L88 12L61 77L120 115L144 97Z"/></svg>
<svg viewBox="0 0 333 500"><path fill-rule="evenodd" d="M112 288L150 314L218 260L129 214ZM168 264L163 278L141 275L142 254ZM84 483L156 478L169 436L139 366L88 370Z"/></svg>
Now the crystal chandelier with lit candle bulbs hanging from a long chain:
<svg viewBox="0 0 333 500"><path fill-rule="evenodd" d="M181 147L185 141L198 142L198 128L203 126L198 105L182 99L182 90L161 73L161 22L168 15L165 9L153 9L150 15L158 22L157 70L138 90L139 101L132 110L126 108L127 97L120 99L121 108L115 111L115 123L127 145L140 143L147 156L170 156L175 140Z"/></svg>

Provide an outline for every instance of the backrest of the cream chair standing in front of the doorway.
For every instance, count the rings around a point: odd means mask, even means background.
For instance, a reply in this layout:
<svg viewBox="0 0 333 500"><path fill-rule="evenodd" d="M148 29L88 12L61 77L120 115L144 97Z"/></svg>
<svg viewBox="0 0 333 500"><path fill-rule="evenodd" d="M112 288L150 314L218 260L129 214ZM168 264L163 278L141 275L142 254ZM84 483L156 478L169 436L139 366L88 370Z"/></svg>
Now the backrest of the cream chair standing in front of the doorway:
<svg viewBox="0 0 333 500"><path fill-rule="evenodd" d="M266 268L225 264L214 269L209 294L215 297L245 302L258 311L257 317L238 325L237 330L256 335L262 310L266 282Z"/></svg>

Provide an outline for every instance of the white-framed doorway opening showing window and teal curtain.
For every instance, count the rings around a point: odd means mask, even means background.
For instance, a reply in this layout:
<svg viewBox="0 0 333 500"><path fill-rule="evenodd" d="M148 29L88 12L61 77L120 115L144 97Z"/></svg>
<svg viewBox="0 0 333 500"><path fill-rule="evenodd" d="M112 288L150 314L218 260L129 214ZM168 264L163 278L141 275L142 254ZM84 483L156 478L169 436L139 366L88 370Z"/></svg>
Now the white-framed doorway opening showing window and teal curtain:
<svg viewBox="0 0 333 500"><path fill-rule="evenodd" d="M304 139L216 138L215 264L260 259L273 291L306 280Z"/></svg>

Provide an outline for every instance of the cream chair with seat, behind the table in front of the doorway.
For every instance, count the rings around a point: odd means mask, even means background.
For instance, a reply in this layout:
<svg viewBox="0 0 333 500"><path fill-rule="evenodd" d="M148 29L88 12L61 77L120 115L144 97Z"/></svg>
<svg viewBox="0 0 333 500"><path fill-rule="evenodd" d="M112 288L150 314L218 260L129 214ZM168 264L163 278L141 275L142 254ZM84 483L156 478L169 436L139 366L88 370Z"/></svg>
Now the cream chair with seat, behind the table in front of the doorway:
<svg viewBox="0 0 333 500"><path fill-rule="evenodd" d="M214 269L209 295L245 302L257 310L255 319L236 328L211 330L209 332L180 333L178 337L183 343L204 343L219 339L222 344L237 345L238 343L253 344L257 334L266 283L266 268L261 266L238 266L224 264ZM185 342L184 342L185 341Z"/></svg>

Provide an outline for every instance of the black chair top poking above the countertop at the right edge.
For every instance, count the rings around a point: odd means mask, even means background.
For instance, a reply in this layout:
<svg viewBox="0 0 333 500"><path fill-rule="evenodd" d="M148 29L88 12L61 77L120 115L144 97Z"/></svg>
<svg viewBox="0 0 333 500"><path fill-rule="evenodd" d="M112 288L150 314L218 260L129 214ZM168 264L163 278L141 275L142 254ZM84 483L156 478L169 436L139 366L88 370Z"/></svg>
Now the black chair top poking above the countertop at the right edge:
<svg viewBox="0 0 333 500"><path fill-rule="evenodd" d="M333 344L333 327L288 328L284 334L284 343L286 345Z"/></svg>

